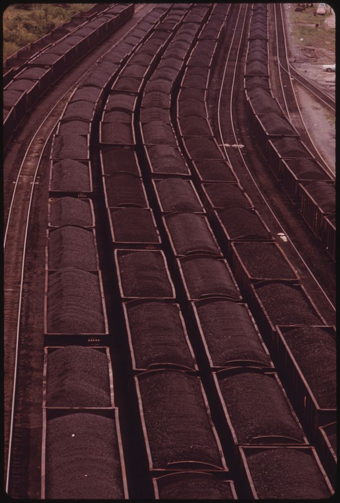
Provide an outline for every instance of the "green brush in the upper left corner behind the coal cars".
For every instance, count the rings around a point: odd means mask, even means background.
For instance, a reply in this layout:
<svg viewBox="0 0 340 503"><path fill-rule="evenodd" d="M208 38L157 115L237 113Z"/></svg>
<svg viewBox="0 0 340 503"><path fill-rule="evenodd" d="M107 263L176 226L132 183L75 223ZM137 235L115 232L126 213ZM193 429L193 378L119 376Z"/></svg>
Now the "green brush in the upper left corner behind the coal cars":
<svg viewBox="0 0 340 503"><path fill-rule="evenodd" d="M3 58L21 47L43 37L69 21L79 11L87 11L94 4L13 4L3 14ZM68 6L68 7L66 7Z"/></svg>

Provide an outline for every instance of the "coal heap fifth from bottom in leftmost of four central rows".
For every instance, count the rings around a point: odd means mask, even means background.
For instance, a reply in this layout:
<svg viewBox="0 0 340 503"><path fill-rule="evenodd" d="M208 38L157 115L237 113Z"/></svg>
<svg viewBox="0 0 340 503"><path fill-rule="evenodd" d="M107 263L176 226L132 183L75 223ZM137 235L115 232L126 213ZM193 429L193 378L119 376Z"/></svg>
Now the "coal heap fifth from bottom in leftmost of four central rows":
<svg viewBox="0 0 340 503"><path fill-rule="evenodd" d="M50 225L52 227L61 227L63 225L92 227L94 221L89 201L73 197L50 200Z"/></svg>

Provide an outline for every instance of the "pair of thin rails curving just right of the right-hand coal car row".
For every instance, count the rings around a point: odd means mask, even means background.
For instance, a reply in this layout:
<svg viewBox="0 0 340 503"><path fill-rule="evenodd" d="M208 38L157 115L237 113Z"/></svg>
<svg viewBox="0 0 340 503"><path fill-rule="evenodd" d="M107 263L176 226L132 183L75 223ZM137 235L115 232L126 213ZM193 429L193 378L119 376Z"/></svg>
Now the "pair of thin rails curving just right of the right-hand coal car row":
<svg viewBox="0 0 340 503"><path fill-rule="evenodd" d="M280 19L278 19L279 16L277 16L277 10L278 9L280 10L279 11L279 13L280 13ZM296 98L296 93L295 93L295 89L294 89L293 82L292 82L292 75L290 73L289 63L288 63L287 40L286 40L286 34L285 34L285 29L284 29L284 22L283 22L283 15L282 15L282 5L281 4L274 5L274 16L275 16L276 48L277 48L277 60L278 60L278 63L279 63L278 67L279 67L280 82L281 82L282 94L283 94L283 97L284 97L284 101L285 101L285 105L286 105L286 109L287 109L287 114L288 114L289 121L291 123L293 123L293 121L291 119L291 116L290 116L290 113L289 113L289 110L288 110L287 101L289 102L289 100L286 100L287 88L283 85L283 82L282 82L281 68L288 75L289 82L290 82L290 89L291 89L291 91L292 91L292 93L294 95L294 102L295 102L294 103L294 107L296 107L296 109L298 111L298 114L299 114L299 118L298 119L301 120L301 122L302 122L302 125L303 125L303 128L304 128L304 132L307 134L307 136L309 138L309 141L312 144L315 152L317 152L319 158L322 160L322 163L324 165L325 171L327 172L327 175L329 175L332 178L332 180L334 180L335 179L334 171L331 169L331 167L328 166L327 161L322 157L322 154L319 152L317 146L315 145L313 139L311 138L311 136L310 136L310 134L308 132L308 128L306 127L306 124L304 122L304 119L303 119L303 116L302 116L302 113L301 113L301 109L300 109L298 100ZM279 54L279 26L278 26L278 23L280 22L280 20L281 20L280 30L282 30L282 42L283 42L283 50L284 50L284 60L282 60L282 58L280 57L280 54Z"/></svg>

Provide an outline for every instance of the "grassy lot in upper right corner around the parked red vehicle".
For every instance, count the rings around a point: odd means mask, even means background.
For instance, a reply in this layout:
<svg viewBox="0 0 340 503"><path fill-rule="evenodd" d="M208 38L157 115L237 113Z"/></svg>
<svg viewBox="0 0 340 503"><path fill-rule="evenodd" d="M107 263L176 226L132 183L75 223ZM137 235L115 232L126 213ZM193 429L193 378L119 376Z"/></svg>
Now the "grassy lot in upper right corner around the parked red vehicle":
<svg viewBox="0 0 340 503"><path fill-rule="evenodd" d="M335 51L335 28L325 26L330 14L314 16L316 4L302 12L295 12L294 6L295 4L291 4L289 16L296 46L300 48L311 46ZM316 24L318 24L317 28ZM303 38L302 41L301 38Z"/></svg>

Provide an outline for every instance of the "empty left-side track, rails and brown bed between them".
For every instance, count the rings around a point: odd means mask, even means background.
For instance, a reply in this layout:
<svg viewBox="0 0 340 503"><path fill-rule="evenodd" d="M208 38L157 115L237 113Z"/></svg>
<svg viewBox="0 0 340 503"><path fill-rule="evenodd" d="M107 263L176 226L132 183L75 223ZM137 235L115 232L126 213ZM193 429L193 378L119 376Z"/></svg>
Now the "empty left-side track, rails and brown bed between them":
<svg viewBox="0 0 340 503"><path fill-rule="evenodd" d="M135 13L138 12L139 10L141 10L143 7L144 7L143 4L136 4ZM125 37L132 30L132 28L130 30L128 30L126 33L124 33L123 37ZM110 47L105 53L103 53L100 56L100 58L103 57L111 49L112 49L112 47ZM95 66L96 62L93 65L91 65L90 67L88 67L81 74L81 76L63 94L63 96L58 100L58 102L51 109L49 114L45 117L43 122L39 125L37 131L35 132L32 140L29 144L29 147L25 153L24 159L21 163L20 170L18 172L17 180L15 183L15 188L14 188L13 195L12 195L12 201L11 201L11 206L10 206L10 211L9 211L9 215L8 215L6 231L5 231L5 236L4 236L4 255L5 255L5 251L6 251L6 244L9 242L9 239L13 237L13 239L15 240L14 249L16 251L16 255L18 256L18 261L13 260L13 254L11 254L11 261L12 261L12 263L15 262L15 264L14 264L15 269L18 269L18 265L20 264L20 261L21 261L21 271L20 271L20 280L19 280L20 286L19 287L17 286L17 288L14 288L14 289L13 288L5 288L5 291L15 291L17 293L18 293L18 288L19 288L19 299L18 299L17 295L16 295L16 299L14 299L15 304L18 304L18 302L19 302L16 319L15 320L8 320L8 322L16 324L16 341L15 341L16 347L15 347L15 363L14 363L14 373L13 373L14 377L13 377L10 434L9 434L9 442L8 442L9 448L8 448L7 472L6 472L6 492L7 493L9 490L10 471L11 471L10 467L11 467L11 457L12 457L14 411L15 411L16 385L17 385L17 374L18 374L19 332L20 332L22 294L23 294L23 285L24 285L26 245L27 245L28 226L29 226L29 221L30 221L30 213L31 213L32 200L33 200L34 189L35 189L35 185L36 185L37 174L39 171L39 167L41 164L41 159L43 157L44 150L45 150L45 148L51 138L53 131L55 130L55 128L58 124L59 119L62 116L64 106L65 106L65 103L67 102L67 99L70 97L70 95L72 94L74 89L78 86L81 79L93 68L93 66ZM40 138L38 136L38 134L42 133L42 131L47 133L47 136L45 134L44 137ZM38 152L36 150L38 150ZM32 157L30 157L30 152L32 152L31 153ZM25 168L27 169L27 173L25 173ZM19 185L21 185L20 178L24 178L24 177L26 179L30 178L31 182L28 182L26 180L26 183L23 184L23 187L22 187L23 192L27 191L28 184L30 184L32 187L30 189L29 198L26 193L26 194L23 194L22 199L20 199L21 201L26 200L28 206L26 207L26 211L23 211L24 208L21 205L19 205L20 206L19 214L21 215L21 218L24 219L22 223L23 223L23 226L25 226L25 233L24 233L24 235L22 235L22 244L19 247L18 246L18 239L17 239L18 227L22 228L22 226L18 224L19 219L14 218L14 216L15 216L15 199L17 199L16 194L19 193L18 187L19 187ZM15 220L17 222L17 232L16 231L11 232L10 223L12 222L12 220ZM6 272L6 258L4 260L4 263L5 263L5 272ZM5 275L5 278L6 278L6 276L8 277L8 274ZM17 285L19 283L16 280L13 281L13 279L12 279L12 281L9 280L9 282L10 283L17 283ZM13 285L10 284L9 286L13 286ZM5 287L6 287L6 280L5 280ZM10 296L7 293L5 296L5 309L6 309L6 305L12 304L12 301L13 301L13 294L11 295L11 299L10 299ZM14 307L14 309L15 309L15 307Z"/></svg>

